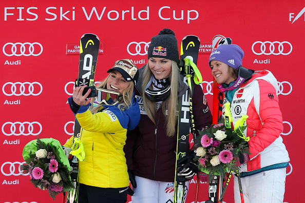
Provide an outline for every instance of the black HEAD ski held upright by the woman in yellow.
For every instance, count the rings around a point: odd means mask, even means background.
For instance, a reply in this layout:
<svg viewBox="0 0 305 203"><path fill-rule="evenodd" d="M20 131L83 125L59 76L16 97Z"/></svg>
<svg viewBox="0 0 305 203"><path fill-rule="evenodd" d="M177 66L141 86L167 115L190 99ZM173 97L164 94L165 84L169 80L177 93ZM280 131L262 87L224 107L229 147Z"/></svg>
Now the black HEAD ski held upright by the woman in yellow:
<svg viewBox="0 0 305 203"><path fill-rule="evenodd" d="M75 87L86 85L87 87L85 88L83 95L90 88L91 92L88 97L96 96L96 89L94 86L94 75L96 73L99 48L100 48L100 39L97 35L91 33L83 34L80 43L79 75L78 78L75 79ZM75 118L72 150L76 150L78 148L79 145L78 143L75 143L75 140L79 140L80 138L81 138L81 126L78 123L77 119ZM69 161L70 161L70 166L73 168L71 173L71 180L72 180L72 184L74 185L74 189L67 192L66 203L78 203L79 160L76 156L72 156L72 158Z"/></svg>

